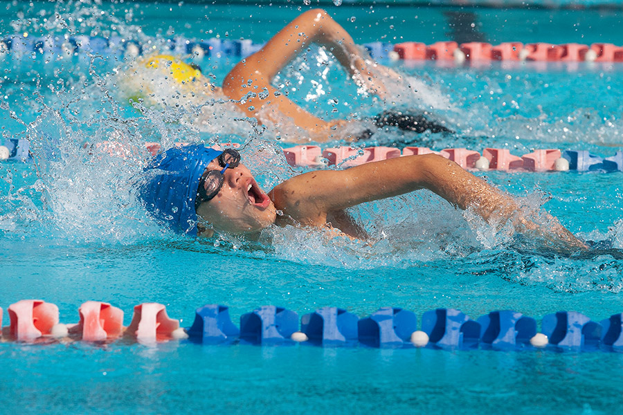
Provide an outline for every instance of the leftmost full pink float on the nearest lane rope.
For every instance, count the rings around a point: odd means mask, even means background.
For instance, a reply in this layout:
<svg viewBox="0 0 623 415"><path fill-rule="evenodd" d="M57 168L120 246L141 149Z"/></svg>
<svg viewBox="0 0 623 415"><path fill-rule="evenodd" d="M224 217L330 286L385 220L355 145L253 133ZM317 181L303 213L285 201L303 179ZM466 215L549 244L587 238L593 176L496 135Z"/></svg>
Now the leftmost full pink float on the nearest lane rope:
<svg viewBox="0 0 623 415"><path fill-rule="evenodd" d="M35 340L50 334L58 324L58 307L40 299L22 299L8 308L10 335L17 340Z"/></svg>

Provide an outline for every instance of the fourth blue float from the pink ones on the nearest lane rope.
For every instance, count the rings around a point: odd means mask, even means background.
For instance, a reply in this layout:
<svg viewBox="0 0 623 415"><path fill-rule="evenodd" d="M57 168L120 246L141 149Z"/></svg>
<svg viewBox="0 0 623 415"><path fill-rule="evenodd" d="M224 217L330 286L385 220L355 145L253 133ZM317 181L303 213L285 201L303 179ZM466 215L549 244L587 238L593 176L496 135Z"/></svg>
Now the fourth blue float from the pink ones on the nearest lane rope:
<svg viewBox="0 0 623 415"><path fill-rule="evenodd" d="M369 347L404 347L417 330L417 317L398 307L381 307L359 320L359 342Z"/></svg>

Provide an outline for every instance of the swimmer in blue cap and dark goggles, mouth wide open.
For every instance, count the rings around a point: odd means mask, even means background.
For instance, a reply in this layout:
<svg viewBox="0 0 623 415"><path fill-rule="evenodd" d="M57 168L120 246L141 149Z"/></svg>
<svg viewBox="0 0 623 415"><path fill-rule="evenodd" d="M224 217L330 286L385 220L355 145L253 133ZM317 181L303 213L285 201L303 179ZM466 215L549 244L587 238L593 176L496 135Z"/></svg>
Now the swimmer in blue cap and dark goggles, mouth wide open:
<svg viewBox="0 0 623 415"><path fill-rule="evenodd" d="M436 154L307 172L264 193L237 151L188 145L152 160L138 196L156 219L192 236L298 225L365 240L368 235L347 208L419 189L431 190L460 209L471 208L488 223L511 221L516 231L551 241L554 249L586 248L556 219L550 218L547 229L526 219L510 196Z"/></svg>

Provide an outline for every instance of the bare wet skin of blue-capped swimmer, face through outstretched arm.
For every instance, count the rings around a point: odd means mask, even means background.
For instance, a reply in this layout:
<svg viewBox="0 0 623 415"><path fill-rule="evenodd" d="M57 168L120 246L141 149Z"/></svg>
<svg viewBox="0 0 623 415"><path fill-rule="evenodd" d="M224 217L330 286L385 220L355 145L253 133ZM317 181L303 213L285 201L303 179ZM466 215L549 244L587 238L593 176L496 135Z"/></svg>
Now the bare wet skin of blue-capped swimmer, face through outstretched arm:
<svg viewBox="0 0 623 415"><path fill-rule="evenodd" d="M219 169L213 160L208 169ZM338 228L365 239L365 232L345 209L419 189L428 189L460 209L472 208L485 221L511 221L525 232L555 243L561 249L586 248L552 218L547 228L523 216L512 199L453 161L435 154L406 156L365 163L346 170L320 170L290 178L265 194L249 169L227 169L222 190L201 203L198 216L215 230L255 232L271 223ZM282 215L277 216L277 210Z"/></svg>

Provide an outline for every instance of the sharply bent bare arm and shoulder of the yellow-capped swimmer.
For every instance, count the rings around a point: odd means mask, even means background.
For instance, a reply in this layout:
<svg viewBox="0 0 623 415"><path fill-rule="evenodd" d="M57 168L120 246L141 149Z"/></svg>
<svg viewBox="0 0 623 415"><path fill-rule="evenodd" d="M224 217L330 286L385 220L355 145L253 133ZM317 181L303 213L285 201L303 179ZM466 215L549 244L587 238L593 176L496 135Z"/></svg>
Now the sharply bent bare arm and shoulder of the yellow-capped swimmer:
<svg viewBox="0 0 623 415"><path fill-rule="evenodd" d="M223 81L224 93L234 100L240 100L249 93L258 94L238 104L251 117L260 116L272 122L281 122L283 116L287 116L298 127L309 131L329 129L336 123L312 116L271 86L273 77L314 42L325 46L346 71L359 77L362 83L372 78L368 68L370 62L366 62L369 57L361 54L352 37L327 12L314 9L298 16L261 50L239 62ZM370 89L375 89L373 82L367 84ZM268 96L260 100L262 91L268 92Z"/></svg>

